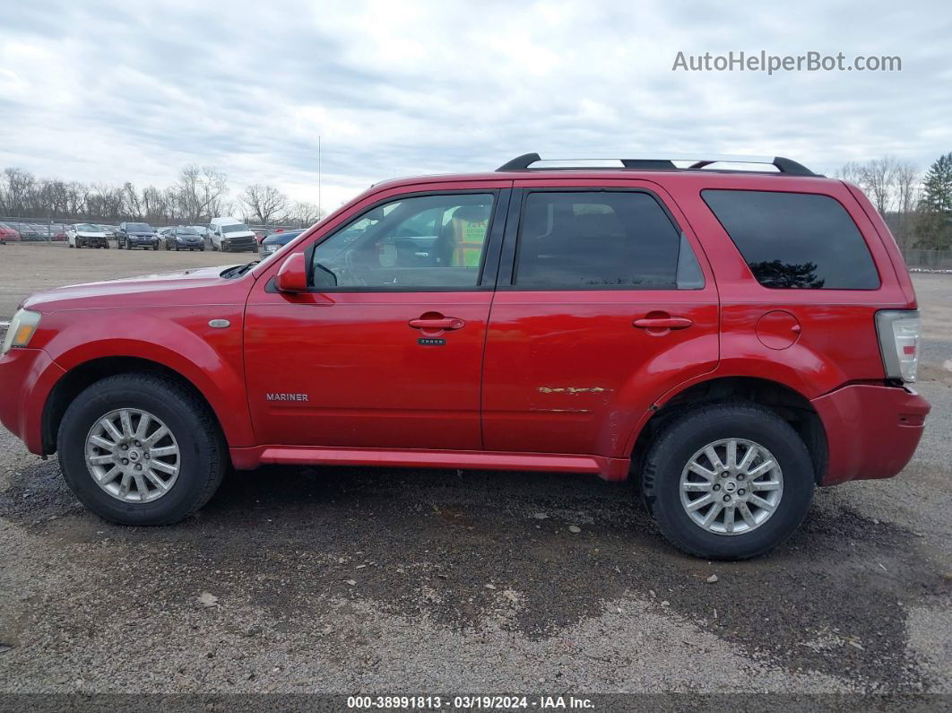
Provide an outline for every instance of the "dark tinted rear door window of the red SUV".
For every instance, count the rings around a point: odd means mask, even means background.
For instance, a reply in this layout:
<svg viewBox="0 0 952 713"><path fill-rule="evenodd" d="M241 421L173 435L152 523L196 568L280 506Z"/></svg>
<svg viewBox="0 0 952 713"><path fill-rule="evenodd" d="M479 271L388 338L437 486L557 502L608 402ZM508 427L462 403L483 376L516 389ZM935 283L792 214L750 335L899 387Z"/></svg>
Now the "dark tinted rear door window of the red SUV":
<svg viewBox="0 0 952 713"><path fill-rule="evenodd" d="M687 241L650 194L539 191L526 197L515 284L674 289L703 287L704 280Z"/></svg>

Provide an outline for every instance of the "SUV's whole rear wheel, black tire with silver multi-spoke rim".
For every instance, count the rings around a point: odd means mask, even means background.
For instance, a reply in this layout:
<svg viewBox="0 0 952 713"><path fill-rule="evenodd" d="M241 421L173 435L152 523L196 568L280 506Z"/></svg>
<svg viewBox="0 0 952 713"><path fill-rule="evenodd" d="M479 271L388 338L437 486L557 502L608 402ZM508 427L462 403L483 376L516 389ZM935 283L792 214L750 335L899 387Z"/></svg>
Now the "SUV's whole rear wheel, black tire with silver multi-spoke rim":
<svg viewBox="0 0 952 713"><path fill-rule="evenodd" d="M740 560L803 522L813 464L797 432L747 403L700 406L664 427L645 458L645 504L664 537L699 557Z"/></svg>

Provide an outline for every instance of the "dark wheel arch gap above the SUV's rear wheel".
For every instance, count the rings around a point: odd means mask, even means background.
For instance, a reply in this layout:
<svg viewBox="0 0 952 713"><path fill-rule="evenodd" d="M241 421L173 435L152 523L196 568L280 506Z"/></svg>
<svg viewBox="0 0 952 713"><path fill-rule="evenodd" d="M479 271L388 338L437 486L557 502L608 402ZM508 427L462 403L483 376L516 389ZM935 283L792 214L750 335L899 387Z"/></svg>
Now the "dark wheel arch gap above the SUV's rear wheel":
<svg viewBox="0 0 952 713"><path fill-rule="evenodd" d="M828 447L820 414L800 391L781 382L749 376L717 376L672 390L652 406L652 413L635 435L631 451L632 468L642 469L642 461L655 435L687 410L703 404L744 401L774 411L793 426L803 439L813 463L814 480L819 485L826 471Z"/></svg>

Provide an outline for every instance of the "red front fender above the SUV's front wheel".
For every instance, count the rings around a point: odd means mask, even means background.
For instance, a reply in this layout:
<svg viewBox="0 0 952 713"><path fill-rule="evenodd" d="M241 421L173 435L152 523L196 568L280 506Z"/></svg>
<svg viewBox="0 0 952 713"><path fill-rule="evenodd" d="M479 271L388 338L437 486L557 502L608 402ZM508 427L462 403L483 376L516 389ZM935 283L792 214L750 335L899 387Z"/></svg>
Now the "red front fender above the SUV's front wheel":
<svg viewBox="0 0 952 713"><path fill-rule="evenodd" d="M166 307L161 316L122 307L97 311L101 318L92 325L84 319L70 326L69 312L46 315L53 328L43 348L53 364L67 373L104 357L134 357L166 366L205 397L229 446L255 445L245 391L242 306L214 306L213 315L209 307ZM230 325L209 327L209 316ZM49 391L44 401L47 397Z"/></svg>

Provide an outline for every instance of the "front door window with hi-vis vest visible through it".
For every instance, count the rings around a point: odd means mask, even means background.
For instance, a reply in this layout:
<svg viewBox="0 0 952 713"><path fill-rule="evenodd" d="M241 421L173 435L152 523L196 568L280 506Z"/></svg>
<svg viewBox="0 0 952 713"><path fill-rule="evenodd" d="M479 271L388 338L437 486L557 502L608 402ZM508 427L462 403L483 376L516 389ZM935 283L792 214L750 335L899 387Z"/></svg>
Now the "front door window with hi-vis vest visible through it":
<svg viewBox="0 0 952 713"><path fill-rule="evenodd" d="M373 208L314 249L314 287L412 290L479 284L493 195L404 198Z"/></svg>

